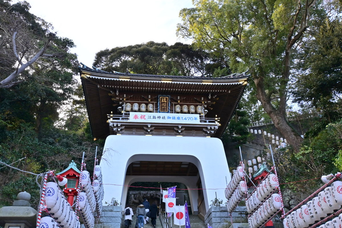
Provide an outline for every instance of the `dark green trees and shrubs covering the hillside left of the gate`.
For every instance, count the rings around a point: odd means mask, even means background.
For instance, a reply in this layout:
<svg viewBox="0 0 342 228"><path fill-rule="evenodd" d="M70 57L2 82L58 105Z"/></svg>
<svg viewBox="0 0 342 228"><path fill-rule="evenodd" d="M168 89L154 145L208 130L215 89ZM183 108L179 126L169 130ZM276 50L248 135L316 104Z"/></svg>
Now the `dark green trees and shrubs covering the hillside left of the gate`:
<svg viewBox="0 0 342 228"><path fill-rule="evenodd" d="M27 2L11 5L9 1L0 1L0 8L1 13L20 21L20 31L28 32L28 42L33 50L27 50L27 53L44 45L52 25L29 13ZM0 17L1 26L9 25L6 18ZM18 33L18 40L24 38ZM0 34L1 45L7 45L1 42L4 39L6 37ZM87 167L92 173L95 147L101 150L99 144L103 141L95 144L91 137L82 89L73 76L78 71L78 61L76 54L69 51L74 46L72 40L54 36L45 53L57 53L55 57L41 58L30 66L29 72L23 72L22 78L29 76L24 82L0 89L2 162L13 163L13 167L36 174L47 170L60 172L71 160L79 165L82 151L85 151L86 162L90 162ZM6 48L8 46L1 49L2 52ZM17 48L22 50L23 46ZM13 70L15 61L8 52L0 54L0 77ZM60 113L65 115L60 117ZM37 206L39 187L36 176L1 165L0 179L0 206L11 205L21 191L29 192L32 205Z"/></svg>

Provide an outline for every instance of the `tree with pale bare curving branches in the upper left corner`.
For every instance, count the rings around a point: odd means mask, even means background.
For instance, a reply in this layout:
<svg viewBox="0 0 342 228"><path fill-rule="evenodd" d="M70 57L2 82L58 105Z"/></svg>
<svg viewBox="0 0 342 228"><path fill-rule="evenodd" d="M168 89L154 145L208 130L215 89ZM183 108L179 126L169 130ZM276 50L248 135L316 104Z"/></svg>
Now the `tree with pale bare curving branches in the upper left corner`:
<svg viewBox="0 0 342 228"><path fill-rule="evenodd" d="M57 37L52 25L29 9L26 1L0 2L0 89L26 80L47 81L49 77L41 77L38 69L76 59L68 53L74 43Z"/></svg>

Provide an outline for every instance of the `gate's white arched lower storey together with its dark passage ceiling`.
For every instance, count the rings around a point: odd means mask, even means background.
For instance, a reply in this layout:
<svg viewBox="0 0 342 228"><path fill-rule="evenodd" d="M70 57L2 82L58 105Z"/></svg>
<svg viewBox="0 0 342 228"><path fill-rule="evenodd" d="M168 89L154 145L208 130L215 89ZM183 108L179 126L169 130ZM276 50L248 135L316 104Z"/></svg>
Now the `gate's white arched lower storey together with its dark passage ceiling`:
<svg viewBox="0 0 342 228"><path fill-rule="evenodd" d="M218 138L110 135L104 149L117 151L111 155L105 153L101 161L107 201L115 197L124 207L128 186L134 182L183 183L189 189L193 214L203 216L215 193L219 199L225 198L225 176L228 181L230 178L223 145ZM170 166L162 167L165 165ZM222 190L217 190L220 188Z"/></svg>

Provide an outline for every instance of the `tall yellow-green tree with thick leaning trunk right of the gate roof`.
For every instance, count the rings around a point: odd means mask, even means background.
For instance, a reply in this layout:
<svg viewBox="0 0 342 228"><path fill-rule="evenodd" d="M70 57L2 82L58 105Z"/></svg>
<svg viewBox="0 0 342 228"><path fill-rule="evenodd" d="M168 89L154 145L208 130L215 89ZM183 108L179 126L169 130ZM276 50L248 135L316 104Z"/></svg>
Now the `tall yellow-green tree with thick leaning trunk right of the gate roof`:
<svg viewBox="0 0 342 228"><path fill-rule="evenodd" d="M218 53L233 71L249 69L255 96L275 127L299 151L302 138L286 120L293 51L305 45L313 19L324 18L320 5L299 0L194 0L182 9L177 34ZM317 6L315 5L317 4Z"/></svg>

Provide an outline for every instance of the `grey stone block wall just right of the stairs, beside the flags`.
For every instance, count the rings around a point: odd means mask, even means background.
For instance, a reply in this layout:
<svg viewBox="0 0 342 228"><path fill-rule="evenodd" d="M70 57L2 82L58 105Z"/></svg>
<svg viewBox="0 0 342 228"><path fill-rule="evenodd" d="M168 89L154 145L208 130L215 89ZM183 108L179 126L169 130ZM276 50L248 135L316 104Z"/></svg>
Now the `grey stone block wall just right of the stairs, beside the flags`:
<svg viewBox="0 0 342 228"><path fill-rule="evenodd" d="M232 213L233 223L246 223L246 213L247 209L245 206L236 207ZM229 228L231 225L231 217L227 212L226 206L210 207L204 219L205 224L209 223L212 228Z"/></svg>

